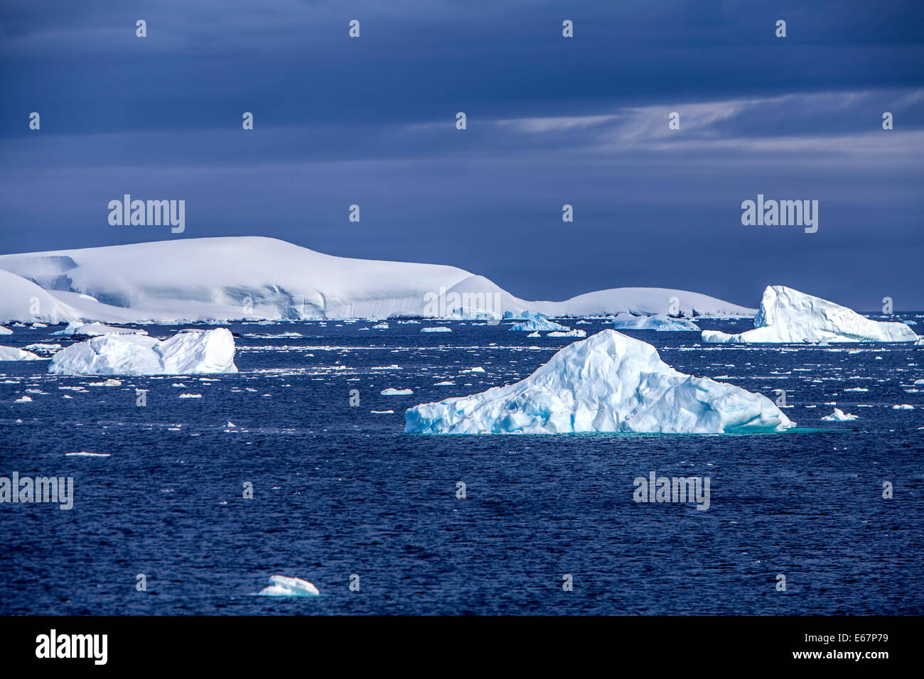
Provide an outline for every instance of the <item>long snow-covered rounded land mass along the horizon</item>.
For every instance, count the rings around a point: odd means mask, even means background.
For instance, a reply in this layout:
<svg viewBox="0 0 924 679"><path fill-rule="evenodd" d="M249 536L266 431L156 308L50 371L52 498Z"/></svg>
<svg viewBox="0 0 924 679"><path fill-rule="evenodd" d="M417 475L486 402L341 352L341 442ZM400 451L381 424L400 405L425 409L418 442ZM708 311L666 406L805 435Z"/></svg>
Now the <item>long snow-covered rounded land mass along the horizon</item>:
<svg viewBox="0 0 924 679"><path fill-rule="evenodd" d="M333 257L263 236L0 255L0 270L9 272L0 278L0 322L36 320L29 298L42 289L43 318L52 322L501 318L505 311L525 310L588 316L662 313L672 297L686 315L754 313L666 288L614 288L563 302L532 302L454 266ZM434 301L441 292L442 305Z"/></svg>

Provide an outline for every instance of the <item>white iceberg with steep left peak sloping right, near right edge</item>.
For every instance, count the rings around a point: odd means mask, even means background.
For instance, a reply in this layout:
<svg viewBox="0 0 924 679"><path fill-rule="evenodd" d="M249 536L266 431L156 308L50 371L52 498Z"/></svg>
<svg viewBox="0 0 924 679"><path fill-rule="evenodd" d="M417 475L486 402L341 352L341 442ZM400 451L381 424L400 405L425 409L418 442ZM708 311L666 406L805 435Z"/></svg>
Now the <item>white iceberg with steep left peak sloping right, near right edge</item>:
<svg viewBox="0 0 924 679"><path fill-rule="evenodd" d="M905 323L870 321L821 297L784 285L768 285L754 317L754 329L727 334L702 332L703 342L914 342L918 335Z"/></svg>

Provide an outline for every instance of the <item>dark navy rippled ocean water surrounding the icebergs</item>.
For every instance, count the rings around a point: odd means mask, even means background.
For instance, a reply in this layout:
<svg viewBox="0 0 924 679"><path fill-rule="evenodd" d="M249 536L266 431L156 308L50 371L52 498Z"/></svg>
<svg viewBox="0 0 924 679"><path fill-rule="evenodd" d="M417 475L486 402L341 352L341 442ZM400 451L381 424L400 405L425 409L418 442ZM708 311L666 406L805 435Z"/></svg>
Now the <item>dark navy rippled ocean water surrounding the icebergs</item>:
<svg viewBox="0 0 924 679"><path fill-rule="evenodd" d="M47 361L0 363L0 476L75 485L70 511L0 504L0 613L924 612L924 351L630 332L677 370L785 389L799 429L421 437L403 433L405 408L522 379L574 340L503 324L362 330L372 324L234 324L304 336L238 338L240 373L214 382L90 386L100 378L48 376ZM67 344L49 337L58 329L0 344ZM15 403L26 390L41 393ZM820 421L829 402L860 418ZM65 455L78 451L111 456ZM635 503L633 479L650 471L710 477L710 509ZM322 596L253 596L274 574Z"/></svg>

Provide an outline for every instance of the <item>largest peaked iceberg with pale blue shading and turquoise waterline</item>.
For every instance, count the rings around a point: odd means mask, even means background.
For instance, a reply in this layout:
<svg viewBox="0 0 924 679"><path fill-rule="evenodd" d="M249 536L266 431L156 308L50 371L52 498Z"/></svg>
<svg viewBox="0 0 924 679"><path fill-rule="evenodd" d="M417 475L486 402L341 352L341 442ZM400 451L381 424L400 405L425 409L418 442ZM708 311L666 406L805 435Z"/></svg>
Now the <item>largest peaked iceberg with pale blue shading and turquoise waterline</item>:
<svg viewBox="0 0 924 679"><path fill-rule="evenodd" d="M794 426L761 394L691 377L614 330L565 346L522 382L414 406L407 433L750 433Z"/></svg>

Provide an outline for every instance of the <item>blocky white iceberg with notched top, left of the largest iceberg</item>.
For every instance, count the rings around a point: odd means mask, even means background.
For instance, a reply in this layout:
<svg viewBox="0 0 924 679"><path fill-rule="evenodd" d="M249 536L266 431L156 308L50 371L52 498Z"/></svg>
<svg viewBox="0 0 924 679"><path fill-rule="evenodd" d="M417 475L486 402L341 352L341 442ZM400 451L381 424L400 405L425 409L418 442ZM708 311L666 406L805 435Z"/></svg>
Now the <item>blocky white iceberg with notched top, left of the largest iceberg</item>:
<svg viewBox="0 0 924 679"><path fill-rule="evenodd" d="M237 372L234 355L234 337L226 328L185 330L166 340L142 334L102 334L57 352L48 371L59 375Z"/></svg>

